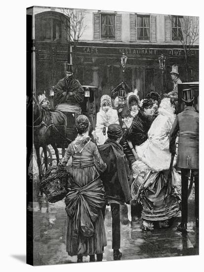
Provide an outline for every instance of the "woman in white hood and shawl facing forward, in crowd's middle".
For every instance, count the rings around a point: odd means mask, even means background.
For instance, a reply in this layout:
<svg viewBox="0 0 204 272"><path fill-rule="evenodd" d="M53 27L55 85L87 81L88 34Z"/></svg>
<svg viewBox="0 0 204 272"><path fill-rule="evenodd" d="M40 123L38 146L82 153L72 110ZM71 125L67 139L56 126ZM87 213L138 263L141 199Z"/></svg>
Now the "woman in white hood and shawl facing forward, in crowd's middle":
<svg viewBox="0 0 204 272"><path fill-rule="evenodd" d="M104 94L101 97L101 107L96 116L96 142L97 145L104 144L108 138L108 126L111 124L119 124L118 112L112 108L111 97Z"/></svg>

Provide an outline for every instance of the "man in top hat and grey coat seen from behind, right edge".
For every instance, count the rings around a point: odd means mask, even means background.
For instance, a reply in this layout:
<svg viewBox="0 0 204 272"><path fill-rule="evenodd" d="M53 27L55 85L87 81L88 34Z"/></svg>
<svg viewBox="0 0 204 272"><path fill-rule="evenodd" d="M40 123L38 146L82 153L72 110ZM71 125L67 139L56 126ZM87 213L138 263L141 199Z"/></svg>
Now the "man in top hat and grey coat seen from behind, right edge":
<svg viewBox="0 0 204 272"><path fill-rule="evenodd" d="M188 179L191 173L195 183L195 217L199 222L199 114L193 106L192 89L182 91L184 110L176 116L169 135L169 151L175 152L175 140L179 132L177 167L181 169L181 224L179 231L187 230Z"/></svg>

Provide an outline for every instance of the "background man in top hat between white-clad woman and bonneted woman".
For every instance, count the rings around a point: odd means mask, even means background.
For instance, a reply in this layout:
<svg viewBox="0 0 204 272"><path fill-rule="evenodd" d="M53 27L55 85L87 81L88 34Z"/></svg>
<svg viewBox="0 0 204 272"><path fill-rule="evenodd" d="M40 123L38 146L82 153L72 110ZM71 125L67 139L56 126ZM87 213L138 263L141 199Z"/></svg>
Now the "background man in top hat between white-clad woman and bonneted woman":
<svg viewBox="0 0 204 272"><path fill-rule="evenodd" d="M124 125L124 120L129 114L129 109L126 103L126 99L127 99L126 91L124 91L123 89L120 89L118 92L118 97L119 97L119 100L118 100L117 110L118 110L119 123L122 130L124 130L126 128L126 126Z"/></svg>

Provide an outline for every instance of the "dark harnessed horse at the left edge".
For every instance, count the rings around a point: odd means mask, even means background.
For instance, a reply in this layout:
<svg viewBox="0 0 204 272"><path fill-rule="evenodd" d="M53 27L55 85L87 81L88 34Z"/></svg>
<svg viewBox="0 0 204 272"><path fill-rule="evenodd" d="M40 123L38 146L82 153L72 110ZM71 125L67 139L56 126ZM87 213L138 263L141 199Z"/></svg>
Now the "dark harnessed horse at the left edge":
<svg viewBox="0 0 204 272"><path fill-rule="evenodd" d="M63 145L66 141L67 117L61 111L49 111L43 109L37 99L33 98L33 129L34 147L36 149L39 177L42 178L40 159L40 147L44 152L44 164L47 171L47 145L51 144L55 151L57 165L59 163L59 152L57 143Z"/></svg>

